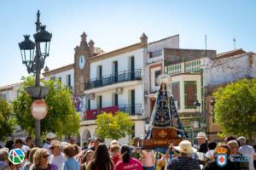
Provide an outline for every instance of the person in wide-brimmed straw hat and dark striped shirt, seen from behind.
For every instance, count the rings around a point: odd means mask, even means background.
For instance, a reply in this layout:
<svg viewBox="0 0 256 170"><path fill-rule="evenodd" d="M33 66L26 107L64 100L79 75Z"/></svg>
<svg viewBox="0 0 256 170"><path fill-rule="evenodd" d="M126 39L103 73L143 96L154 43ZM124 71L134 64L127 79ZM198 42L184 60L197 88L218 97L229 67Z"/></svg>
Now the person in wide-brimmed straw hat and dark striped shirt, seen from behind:
<svg viewBox="0 0 256 170"><path fill-rule="evenodd" d="M192 153L196 150L189 140L181 141L174 149L179 152L179 156L170 161L166 170L201 170L198 161L191 158Z"/></svg>

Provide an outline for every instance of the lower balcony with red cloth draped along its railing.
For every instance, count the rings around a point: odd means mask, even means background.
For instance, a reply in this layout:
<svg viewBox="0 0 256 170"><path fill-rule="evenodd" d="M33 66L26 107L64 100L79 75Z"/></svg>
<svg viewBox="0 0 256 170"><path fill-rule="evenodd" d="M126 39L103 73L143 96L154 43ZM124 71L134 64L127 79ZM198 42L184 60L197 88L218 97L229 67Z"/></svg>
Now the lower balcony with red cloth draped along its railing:
<svg viewBox="0 0 256 170"><path fill-rule="evenodd" d="M142 104L135 105L115 105L111 107L105 107L101 109L94 109L86 111L84 120L95 120L96 116L104 112L115 114L117 111L123 111L128 113L129 116L141 116L142 115Z"/></svg>

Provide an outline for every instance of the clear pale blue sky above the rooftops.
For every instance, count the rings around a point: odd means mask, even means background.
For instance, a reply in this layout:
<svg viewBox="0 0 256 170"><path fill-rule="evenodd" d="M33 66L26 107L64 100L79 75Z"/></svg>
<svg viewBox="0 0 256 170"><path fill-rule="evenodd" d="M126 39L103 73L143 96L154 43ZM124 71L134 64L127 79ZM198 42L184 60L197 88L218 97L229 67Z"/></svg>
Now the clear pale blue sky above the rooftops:
<svg viewBox="0 0 256 170"><path fill-rule="evenodd" d="M256 1L249 0L9 0L0 1L0 86L26 76L18 42L35 33L37 10L53 33L46 65L73 63L73 48L83 31L105 51L138 42L180 35L180 48L207 48L218 53L236 48L256 52Z"/></svg>

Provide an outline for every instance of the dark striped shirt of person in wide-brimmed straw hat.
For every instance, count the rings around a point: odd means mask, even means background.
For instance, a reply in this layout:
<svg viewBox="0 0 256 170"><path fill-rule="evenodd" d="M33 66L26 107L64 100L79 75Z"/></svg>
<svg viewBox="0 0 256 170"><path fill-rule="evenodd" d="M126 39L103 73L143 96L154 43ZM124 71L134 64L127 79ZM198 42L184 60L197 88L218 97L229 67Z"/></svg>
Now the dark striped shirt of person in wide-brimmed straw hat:
<svg viewBox="0 0 256 170"><path fill-rule="evenodd" d="M170 161L166 170L201 170L201 168L195 159L178 156Z"/></svg>

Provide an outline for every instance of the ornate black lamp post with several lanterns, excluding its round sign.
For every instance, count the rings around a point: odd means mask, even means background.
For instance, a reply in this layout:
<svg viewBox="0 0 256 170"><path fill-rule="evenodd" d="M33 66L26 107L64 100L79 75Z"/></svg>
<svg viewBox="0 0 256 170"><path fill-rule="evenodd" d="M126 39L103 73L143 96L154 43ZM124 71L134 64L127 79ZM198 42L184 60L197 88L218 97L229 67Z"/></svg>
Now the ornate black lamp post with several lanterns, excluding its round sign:
<svg viewBox="0 0 256 170"><path fill-rule="evenodd" d="M48 93L48 88L40 86L40 74L41 70L44 68L44 60L49 56L49 42L51 40L52 34L45 30L46 26L42 26L40 22L40 12L38 10L36 31L33 35L35 42L29 39L29 35L24 35L25 40L19 43L20 53L22 63L26 65L26 70L28 73L35 75L35 86L28 87L26 89L27 93L30 94L32 99L42 99L45 94ZM36 52L34 54L34 49ZM36 127L36 145L41 144L41 127L40 120L35 119Z"/></svg>

